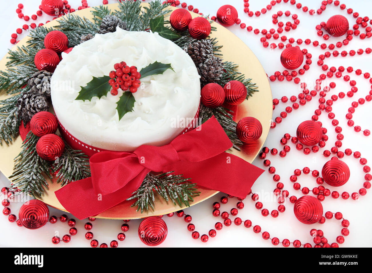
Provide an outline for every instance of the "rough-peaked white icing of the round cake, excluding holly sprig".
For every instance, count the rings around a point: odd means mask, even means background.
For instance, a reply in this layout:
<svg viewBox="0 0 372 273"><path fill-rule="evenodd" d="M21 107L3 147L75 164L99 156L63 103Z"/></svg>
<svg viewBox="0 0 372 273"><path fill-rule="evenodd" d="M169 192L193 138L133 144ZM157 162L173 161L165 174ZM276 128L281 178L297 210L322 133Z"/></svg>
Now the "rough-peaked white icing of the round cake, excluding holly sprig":
<svg viewBox="0 0 372 273"><path fill-rule="evenodd" d="M179 46L158 33L96 34L66 54L52 76L51 97L62 126L76 139L100 149L133 151L142 144L168 144L187 128L198 111L200 81L195 64ZM171 64L163 74L141 78L132 111L120 120L116 110L123 91L76 100L80 86L109 75L125 61L140 71L153 62ZM142 87L143 85L143 87Z"/></svg>

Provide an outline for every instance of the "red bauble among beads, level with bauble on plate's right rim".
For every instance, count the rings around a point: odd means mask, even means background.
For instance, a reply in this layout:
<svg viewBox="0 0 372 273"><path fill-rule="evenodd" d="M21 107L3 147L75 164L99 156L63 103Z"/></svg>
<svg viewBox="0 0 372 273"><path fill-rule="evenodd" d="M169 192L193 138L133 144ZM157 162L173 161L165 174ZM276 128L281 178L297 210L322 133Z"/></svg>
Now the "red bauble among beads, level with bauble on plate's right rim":
<svg viewBox="0 0 372 273"><path fill-rule="evenodd" d="M304 145L312 146L322 140L322 127L315 121L306 120L297 127L297 138Z"/></svg>

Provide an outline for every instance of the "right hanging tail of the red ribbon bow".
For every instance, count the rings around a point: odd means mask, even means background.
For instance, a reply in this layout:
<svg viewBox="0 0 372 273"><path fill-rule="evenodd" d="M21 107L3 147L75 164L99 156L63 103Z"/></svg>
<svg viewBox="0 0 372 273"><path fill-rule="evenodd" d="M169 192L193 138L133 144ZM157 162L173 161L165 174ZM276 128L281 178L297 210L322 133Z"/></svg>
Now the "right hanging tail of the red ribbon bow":
<svg viewBox="0 0 372 273"><path fill-rule="evenodd" d="M174 170L191 178L198 186L221 191L239 198L246 198L253 183L264 172L238 156L221 153L201 162L176 162L167 166L166 171Z"/></svg>

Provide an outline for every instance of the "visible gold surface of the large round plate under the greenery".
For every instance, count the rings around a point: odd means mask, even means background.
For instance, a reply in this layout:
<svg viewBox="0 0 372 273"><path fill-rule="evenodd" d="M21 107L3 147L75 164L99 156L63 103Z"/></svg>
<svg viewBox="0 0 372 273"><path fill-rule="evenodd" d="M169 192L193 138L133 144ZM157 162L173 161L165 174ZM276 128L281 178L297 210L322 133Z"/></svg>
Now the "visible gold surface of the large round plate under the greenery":
<svg viewBox="0 0 372 273"><path fill-rule="evenodd" d="M148 3L141 3L142 8L144 6L148 6ZM115 10L118 8L118 4L108 4L106 5L109 7L110 10ZM90 11L93 8L78 10L74 12L74 14L80 17L86 17L89 20L93 19L92 14ZM168 9L174 10L177 9L176 7L169 6ZM190 12L192 17L199 16L196 13ZM47 24L45 27L54 27L58 25L57 20L53 20ZM230 149L229 153L237 155L247 162L252 163L254 158L258 155L264 141L266 140L267 134L269 133L270 123L272 120L272 93L269 81L266 76L266 72L264 71L261 63L254 55L254 53L250 50L250 48L240 40L234 33L230 32L230 30L226 29L224 26L219 25L216 22L212 22L212 26L217 27L217 31L211 33L211 38L215 37L217 34L218 40L223 41L221 44L223 47L221 48L222 54L224 58L228 61L235 62L239 64L238 71L242 72L243 74L248 75L251 77L256 84L258 85L259 92L254 93L253 97L249 100L244 101L244 103L238 105L237 110L237 118L236 120L240 120L240 118L245 116L253 116L260 120L262 123L263 131L262 136L260 139L253 144L244 144L242 151L239 152L237 150ZM26 45L26 42L31 39L29 36L26 36L19 43L17 43L12 49L14 50L16 46ZM241 56L244 55L244 56ZM6 68L6 57L9 56L6 54L3 59L0 61L0 70L4 70ZM2 92L0 94L0 100L6 98L6 94ZM12 144L7 145L6 143L3 146L0 146L1 151L1 158L0 158L0 171L9 179L9 176L12 174L13 169L13 158L20 152L20 146L22 144L22 140L18 136ZM49 189L46 190L45 195L42 198L38 198L41 201L44 201L45 204L49 205L50 207L59 209L61 211L66 211L60 202L58 202L57 198L55 197L54 191L60 188L59 184L55 181L47 180L49 184ZM218 191L213 191L209 189L199 188L201 194L194 198L193 202L190 202L190 205L196 205L206 199L214 196L218 193ZM144 213L140 213L136 211L135 207L130 207L132 204L131 201L124 201L113 208L108 209L100 213L99 215L95 216L95 218L102 218L102 219L138 219L138 218L145 218L148 216L154 215L164 215L171 212L178 211L180 209L187 208L185 205L179 207L178 205L174 205L172 202L166 202L159 198L159 196L155 196L155 210L152 211L149 209L148 211L144 211Z"/></svg>

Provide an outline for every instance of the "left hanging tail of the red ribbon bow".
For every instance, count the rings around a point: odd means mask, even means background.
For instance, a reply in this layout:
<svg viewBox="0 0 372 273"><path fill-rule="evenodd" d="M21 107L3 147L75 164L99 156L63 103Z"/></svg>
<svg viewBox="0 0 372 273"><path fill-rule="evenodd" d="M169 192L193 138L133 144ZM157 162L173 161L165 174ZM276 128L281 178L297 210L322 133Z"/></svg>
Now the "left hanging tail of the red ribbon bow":
<svg viewBox="0 0 372 273"><path fill-rule="evenodd" d="M148 169L142 170L124 187L111 194L94 194L91 177L71 182L54 193L68 212L79 220L83 220L100 214L129 198L141 186L148 171Z"/></svg>

